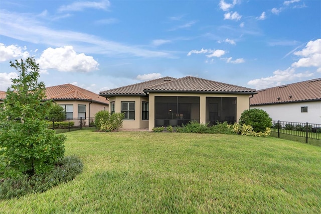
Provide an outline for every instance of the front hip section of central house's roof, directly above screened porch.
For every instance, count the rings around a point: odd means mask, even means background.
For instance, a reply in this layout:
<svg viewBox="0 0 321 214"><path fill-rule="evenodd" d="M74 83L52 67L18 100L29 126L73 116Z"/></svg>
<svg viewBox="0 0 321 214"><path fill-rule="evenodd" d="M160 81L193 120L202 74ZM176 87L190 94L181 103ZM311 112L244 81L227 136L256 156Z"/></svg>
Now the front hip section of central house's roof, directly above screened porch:
<svg viewBox="0 0 321 214"><path fill-rule="evenodd" d="M256 93L255 89L186 76L170 82L152 85L144 91L153 92L209 92L209 93Z"/></svg>

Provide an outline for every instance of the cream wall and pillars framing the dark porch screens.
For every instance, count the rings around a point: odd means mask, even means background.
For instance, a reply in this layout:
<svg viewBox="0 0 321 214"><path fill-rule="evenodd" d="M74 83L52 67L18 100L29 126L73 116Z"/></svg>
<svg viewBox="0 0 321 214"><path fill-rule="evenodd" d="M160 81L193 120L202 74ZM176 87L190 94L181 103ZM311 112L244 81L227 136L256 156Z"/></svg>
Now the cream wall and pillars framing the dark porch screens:
<svg viewBox="0 0 321 214"><path fill-rule="evenodd" d="M149 93L149 122L148 130L152 131L155 124L155 96L198 96L200 97L200 123L206 123L206 97L236 97L236 121L241 114L250 108L248 94L213 94L213 93Z"/></svg>

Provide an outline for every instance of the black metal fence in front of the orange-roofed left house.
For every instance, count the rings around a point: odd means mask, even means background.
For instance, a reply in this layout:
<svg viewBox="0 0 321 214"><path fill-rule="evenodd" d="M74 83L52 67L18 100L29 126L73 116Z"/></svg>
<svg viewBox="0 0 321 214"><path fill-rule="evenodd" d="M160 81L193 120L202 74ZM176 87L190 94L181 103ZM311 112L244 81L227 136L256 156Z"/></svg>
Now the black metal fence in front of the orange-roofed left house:
<svg viewBox="0 0 321 214"><path fill-rule="evenodd" d="M48 121L48 128L56 130L56 133L75 130L95 129L95 118L68 118L65 121Z"/></svg>

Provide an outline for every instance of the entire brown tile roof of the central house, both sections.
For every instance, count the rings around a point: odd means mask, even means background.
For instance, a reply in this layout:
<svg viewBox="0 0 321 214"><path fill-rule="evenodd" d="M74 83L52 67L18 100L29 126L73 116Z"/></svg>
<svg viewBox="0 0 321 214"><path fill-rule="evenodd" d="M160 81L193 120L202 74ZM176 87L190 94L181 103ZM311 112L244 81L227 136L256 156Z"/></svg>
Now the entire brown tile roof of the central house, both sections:
<svg viewBox="0 0 321 214"><path fill-rule="evenodd" d="M256 93L255 89L187 76L164 77L100 92L102 96L144 95L144 92L209 92L209 93Z"/></svg>

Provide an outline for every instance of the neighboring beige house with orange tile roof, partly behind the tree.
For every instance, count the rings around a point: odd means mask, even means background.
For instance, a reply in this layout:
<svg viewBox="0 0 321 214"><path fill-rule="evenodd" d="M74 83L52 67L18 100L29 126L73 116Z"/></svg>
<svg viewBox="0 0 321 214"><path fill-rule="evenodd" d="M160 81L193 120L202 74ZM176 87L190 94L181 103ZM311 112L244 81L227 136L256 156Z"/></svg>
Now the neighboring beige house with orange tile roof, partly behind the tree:
<svg viewBox="0 0 321 214"><path fill-rule="evenodd" d="M0 103L5 97L6 92L0 91ZM105 97L72 84L46 87L46 100L48 99L63 106L66 119L94 117L99 111L108 111L109 104Z"/></svg>

